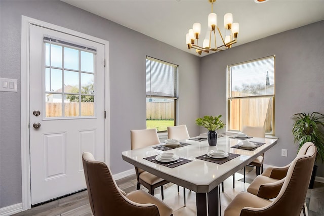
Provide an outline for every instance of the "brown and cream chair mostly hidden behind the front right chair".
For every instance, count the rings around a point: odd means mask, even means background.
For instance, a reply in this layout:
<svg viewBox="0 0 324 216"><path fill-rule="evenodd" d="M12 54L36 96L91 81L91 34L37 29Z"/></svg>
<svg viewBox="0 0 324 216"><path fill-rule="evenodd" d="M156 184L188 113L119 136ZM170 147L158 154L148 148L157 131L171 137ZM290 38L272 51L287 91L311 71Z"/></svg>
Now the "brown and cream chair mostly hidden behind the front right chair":
<svg viewBox="0 0 324 216"><path fill-rule="evenodd" d="M298 151L296 157L305 155L308 148L311 146L312 143L305 143ZM257 176L257 178L253 180L247 191L256 196L261 196L266 199L275 198L280 192L282 185L284 184L285 178L287 176L287 171L290 166L291 163L281 167L267 167L260 176ZM305 207L303 207L303 213L304 215L306 215Z"/></svg>

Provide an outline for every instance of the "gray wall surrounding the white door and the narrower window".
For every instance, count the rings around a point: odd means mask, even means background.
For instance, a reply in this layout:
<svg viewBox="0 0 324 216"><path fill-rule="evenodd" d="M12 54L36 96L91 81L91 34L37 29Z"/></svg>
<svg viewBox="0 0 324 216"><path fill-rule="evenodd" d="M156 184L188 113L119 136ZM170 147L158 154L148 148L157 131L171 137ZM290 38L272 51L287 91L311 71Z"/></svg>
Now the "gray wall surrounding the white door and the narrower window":
<svg viewBox="0 0 324 216"><path fill-rule="evenodd" d="M60 1L0 1L0 77L18 79L18 92L0 92L0 208L20 203L21 15L110 42L110 166L113 174L132 169L121 159L130 149L130 129L146 128L146 55L179 65L178 124L196 135L199 58L141 33ZM131 104L131 106L130 106ZM188 108L190 104L190 109Z"/></svg>

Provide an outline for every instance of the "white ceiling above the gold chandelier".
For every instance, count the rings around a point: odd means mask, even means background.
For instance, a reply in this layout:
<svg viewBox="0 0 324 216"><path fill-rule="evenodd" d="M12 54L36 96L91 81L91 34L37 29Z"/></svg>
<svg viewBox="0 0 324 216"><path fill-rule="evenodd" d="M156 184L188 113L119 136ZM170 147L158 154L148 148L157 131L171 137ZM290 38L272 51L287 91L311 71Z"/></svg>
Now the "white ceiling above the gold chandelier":
<svg viewBox="0 0 324 216"><path fill-rule="evenodd" d="M205 38L211 4L208 0L61 0L98 16L163 41L191 54L185 35L194 22L201 24ZM233 14L239 23L234 46L324 20L324 0L217 0L217 24L222 32L223 17ZM311 32L309 32L311 34ZM199 39L200 42L203 39ZM201 56L204 56L203 54Z"/></svg>

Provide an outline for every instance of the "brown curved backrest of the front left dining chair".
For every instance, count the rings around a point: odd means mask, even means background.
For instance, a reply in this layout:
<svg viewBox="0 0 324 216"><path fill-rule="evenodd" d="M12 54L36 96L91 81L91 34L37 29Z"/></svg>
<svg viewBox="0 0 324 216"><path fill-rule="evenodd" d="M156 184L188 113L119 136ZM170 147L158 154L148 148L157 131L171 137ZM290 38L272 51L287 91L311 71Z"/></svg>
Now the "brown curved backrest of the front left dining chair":
<svg viewBox="0 0 324 216"><path fill-rule="evenodd" d="M95 216L159 215L156 205L139 204L129 200L118 189L109 167L96 161L89 152L82 154L89 202Z"/></svg>

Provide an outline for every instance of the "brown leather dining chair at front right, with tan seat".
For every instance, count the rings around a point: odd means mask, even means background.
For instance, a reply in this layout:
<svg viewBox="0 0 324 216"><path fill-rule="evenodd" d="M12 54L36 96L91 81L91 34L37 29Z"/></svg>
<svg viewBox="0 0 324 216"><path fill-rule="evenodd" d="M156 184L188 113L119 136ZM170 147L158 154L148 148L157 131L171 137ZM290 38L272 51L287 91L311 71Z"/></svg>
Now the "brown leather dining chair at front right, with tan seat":
<svg viewBox="0 0 324 216"><path fill-rule="evenodd" d="M304 206L315 156L316 147L311 144L305 155L293 160L278 195L272 201L260 194L256 196L249 192L239 192L225 209L224 216L299 216Z"/></svg>

